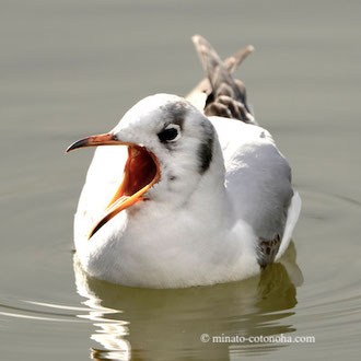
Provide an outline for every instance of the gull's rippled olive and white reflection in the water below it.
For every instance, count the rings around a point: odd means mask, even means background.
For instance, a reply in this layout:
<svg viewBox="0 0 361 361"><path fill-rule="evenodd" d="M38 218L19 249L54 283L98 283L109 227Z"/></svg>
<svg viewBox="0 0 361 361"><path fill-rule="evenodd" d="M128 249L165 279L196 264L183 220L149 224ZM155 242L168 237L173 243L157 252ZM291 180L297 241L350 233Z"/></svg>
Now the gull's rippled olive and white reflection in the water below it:
<svg viewBox="0 0 361 361"><path fill-rule="evenodd" d="M139 289L89 277L74 255L74 273L94 325L95 360L180 358L220 360L271 352L287 343L201 342L200 336L270 336L293 333L296 287L303 282L291 243L281 263L252 279L188 289Z"/></svg>

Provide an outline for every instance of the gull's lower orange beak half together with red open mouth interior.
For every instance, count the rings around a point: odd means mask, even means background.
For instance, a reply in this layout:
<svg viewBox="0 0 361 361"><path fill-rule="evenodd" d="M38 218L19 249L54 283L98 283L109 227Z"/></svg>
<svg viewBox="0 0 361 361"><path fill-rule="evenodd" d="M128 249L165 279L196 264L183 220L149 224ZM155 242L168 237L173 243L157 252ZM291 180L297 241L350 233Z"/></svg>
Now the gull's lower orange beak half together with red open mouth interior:
<svg viewBox="0 0 361 361"><path fill-rule="evenodd" d="M123 182L107 206L106 214L94 226L90 237L120 211L144 200L142 195L159 179L160 166L155 155L148 152L145 148L129 145Z"/></svg>

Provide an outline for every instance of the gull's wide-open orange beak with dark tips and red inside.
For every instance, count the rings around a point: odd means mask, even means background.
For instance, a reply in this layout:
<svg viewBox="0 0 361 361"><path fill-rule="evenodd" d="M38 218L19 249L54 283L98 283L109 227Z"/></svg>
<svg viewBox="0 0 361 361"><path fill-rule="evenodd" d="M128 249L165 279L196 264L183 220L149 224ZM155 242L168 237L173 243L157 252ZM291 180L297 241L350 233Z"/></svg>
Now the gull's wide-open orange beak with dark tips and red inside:
<svg viewBox="0 0 361 361"><path fill-rule="evenodd" d="M95 224L89 237L124 209L144 200L142 196L161 177L160 163L152 152L135 143L121 142L112 133L78 140L67 149L67 153L78 148L97 145L128 145L128 160L124 168L123 182L107 206L106 214Z"/></svg>

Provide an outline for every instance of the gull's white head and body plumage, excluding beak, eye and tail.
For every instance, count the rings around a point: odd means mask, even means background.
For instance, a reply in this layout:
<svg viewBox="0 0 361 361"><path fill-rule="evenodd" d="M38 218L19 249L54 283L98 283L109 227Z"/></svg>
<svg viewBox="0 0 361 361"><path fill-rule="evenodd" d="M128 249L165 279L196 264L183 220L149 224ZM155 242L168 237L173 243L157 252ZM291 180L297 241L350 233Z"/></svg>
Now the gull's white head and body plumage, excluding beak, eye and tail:
<svg viewBox="0 0 361 361"><path fill-rule="evenodd" d="M174 117L183 117L180 138L164 147L156 135ZM257 273L259 238L273 229L282 228L276 260L286 251L301 200L267 130L206 118L184 98L158 94L132 107L112 133L155 154L161 178L148 190L148 201L123 210L89 240L127 161L126 147L96 149L74 222L75 248L88 273L133 287L212 284ZM207 140L211 160L205 171L199 158ZM283 223L276 220L281 203Z"/></svg>

